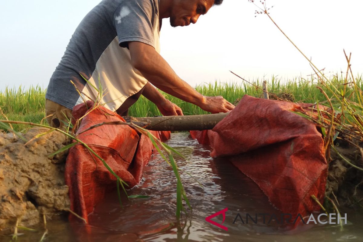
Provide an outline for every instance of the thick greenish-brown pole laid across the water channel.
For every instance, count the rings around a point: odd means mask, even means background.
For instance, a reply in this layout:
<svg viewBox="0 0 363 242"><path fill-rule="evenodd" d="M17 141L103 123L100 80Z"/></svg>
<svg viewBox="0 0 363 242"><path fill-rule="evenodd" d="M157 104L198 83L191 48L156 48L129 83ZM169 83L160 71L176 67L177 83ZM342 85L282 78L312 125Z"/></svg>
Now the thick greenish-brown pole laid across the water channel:
<svg viewBox="0 0 363 242"><path fill-rule="evenodd" d="M189 131L189 130L211 130L228 113L185 115L185 116L162 116L150 118L123 117L126 122L133 122L147 130L156 131Z"/></svg>

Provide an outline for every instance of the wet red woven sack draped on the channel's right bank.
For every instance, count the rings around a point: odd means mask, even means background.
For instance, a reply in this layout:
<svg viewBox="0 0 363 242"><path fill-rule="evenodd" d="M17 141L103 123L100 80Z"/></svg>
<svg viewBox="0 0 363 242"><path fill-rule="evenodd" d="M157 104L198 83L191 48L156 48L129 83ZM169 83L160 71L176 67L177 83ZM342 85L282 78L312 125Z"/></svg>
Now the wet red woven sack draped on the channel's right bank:
<svg viewBox="0 0 363 242"><path fill-rule="evenodd" d="M250 177L283 213L295 218L320 209L327 178L324 141L315 124L292 111L313 104L245 95L213 130L191 131ZM309 110L310 111L310 110Z"/></svg>

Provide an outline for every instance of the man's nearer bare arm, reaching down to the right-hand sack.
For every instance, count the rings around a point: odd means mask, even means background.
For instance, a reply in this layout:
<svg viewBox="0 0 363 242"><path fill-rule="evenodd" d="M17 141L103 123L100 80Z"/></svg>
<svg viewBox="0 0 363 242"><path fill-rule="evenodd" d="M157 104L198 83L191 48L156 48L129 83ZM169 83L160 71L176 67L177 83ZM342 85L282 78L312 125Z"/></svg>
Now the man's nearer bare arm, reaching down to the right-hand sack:
<svg viewBox="0 0 363 242"><path fill-rule="evenodd" d="M212 113L228 112L234 108L233 104L221 96L206 97L198 93L176 75L152 46L142 42L129 42L129 49L132 66L160 90Z"/></svg>

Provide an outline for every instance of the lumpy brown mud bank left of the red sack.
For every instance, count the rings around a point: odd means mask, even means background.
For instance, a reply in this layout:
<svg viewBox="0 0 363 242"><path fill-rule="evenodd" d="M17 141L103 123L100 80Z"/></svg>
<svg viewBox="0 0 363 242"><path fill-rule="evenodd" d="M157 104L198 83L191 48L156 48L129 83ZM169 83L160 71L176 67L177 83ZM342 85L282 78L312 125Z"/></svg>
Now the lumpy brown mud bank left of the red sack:
<svg viewBox="0 0 363 242"><path fill-rule="evenodd" d="M24 135L31 140L48 129L32 128ZM70 140L51 132L26 142L0 132L0 231L19 225L33 226L43 214L47 218L69 209L68 186L64 182L66 152L48 156Z"/></svg>

